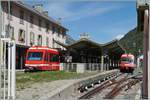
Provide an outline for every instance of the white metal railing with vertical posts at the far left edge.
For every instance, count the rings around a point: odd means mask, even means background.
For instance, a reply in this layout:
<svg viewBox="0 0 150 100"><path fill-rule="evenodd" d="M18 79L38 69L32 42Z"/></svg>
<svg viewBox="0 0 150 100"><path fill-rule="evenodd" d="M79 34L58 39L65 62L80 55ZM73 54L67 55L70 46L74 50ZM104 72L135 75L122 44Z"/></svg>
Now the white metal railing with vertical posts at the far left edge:
<svg viewBox="0 0 150 100"><path fill-rule="evenodd" d="M7 57L6 52L8 52ZM15 100L15 52L14 42L0 39L0 100Z"/></svg>

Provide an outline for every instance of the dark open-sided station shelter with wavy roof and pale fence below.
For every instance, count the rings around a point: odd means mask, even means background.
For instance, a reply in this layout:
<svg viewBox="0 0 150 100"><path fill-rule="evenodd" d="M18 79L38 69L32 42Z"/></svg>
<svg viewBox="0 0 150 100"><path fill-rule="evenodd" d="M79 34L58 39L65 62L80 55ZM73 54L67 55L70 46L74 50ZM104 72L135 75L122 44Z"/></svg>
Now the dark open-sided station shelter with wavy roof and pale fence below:
<svg viewBox="0 0 150 100"><path fill-rule="evenodd" d="M71 56L70 62L63 61L64 70L79 71L81 73L118 68L120 57L125 52L118 40L99 44L90 39L81 38L70 45L61 43L60 45L67 50L65 57Z"/></svg>

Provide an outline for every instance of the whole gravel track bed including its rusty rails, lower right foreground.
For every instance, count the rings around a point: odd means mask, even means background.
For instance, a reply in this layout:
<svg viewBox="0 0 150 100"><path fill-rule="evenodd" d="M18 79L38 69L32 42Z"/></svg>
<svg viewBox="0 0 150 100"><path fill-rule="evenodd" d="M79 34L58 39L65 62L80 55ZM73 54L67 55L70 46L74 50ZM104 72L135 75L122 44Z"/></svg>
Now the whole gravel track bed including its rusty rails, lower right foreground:
<svg viewBox="0 0 150 100"><path fill-rule="evenodd" d="M141 92L140 92L141 76L140 75L141 73L137 73L137 72L135 72L134 74L128 74L128 73L118 73L118 74L111 74L111 75L107 74L106 76L103 74L102 76L104 77L99 76L100 78L98 79L100 80L100 84L93 82L92 83L93 86L91 84L90 87L89 85L84 87L85 89L84 92L77 90L77 87L78 89L80 87L78 85L79 83L77 83L64 89L63 91L52 96L49 99L50 100L83 100L83 99L100 100L100 99L115 98L118 100L120 99L140 100L141 99ZM140 78L137 78L139 76ZM95 78L92 79L94 80ZM80 81L80 83L82 82L83 81ZM80 90L82 89L83 88L81 88Z"/></svg>

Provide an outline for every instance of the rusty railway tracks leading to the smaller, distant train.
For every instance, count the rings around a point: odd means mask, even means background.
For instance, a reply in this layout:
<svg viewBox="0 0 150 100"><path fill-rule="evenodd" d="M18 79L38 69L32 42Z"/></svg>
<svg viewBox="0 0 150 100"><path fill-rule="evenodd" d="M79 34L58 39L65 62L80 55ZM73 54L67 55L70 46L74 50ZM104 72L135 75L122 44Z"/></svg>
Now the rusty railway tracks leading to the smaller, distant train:
<svg viewBox="0 0 150 100"><path fill-rule="evenodd" d="M108 87L111 90L109 90L108 93L104 95L103 99L114 99L120 93L120 91L123 90L123 88L127 87L127 89L129 89L136 83L140 82L140 79L135 78L139 75L119 74L116 77L104 81L99 86L95 87L91 91L88 91L87 93L79 97L79 99L90 99L93 96L100 94L103 90L107 89Z"/></svg>

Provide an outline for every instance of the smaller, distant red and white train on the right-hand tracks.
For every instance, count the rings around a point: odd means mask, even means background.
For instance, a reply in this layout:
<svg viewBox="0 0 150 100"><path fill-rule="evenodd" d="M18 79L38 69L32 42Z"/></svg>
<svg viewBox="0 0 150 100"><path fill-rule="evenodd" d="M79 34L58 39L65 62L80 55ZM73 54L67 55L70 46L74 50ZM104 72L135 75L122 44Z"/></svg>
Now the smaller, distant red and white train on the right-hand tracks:
<svg viewBox="0 0 150 100"><path fill-rule="evenodd" d="M134 69L136 68L134 59L134 55L132 54L122 54L119 64L120 71L133 73Z"/></svg>

